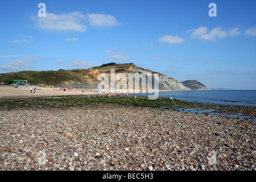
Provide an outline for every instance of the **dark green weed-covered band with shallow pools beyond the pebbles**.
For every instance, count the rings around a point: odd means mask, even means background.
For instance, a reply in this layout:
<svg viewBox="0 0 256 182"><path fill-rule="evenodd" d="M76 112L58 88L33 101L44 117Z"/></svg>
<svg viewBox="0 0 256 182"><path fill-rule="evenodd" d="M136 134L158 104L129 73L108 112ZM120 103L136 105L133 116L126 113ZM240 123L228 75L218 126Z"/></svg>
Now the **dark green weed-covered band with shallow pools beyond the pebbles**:
<svg viewBox="0 0 256 182"><path fill-rule="evenodd" d="M30 107L69 107L84 106L88 104L114 104L139 107L155 107L164 110L172 110L181 113L192 113L200 115L218 115L222 117L233 117L237 119L247 119L256 122L256 107L240 105L217 105L202 104L198 102L187 102L174 100L170 102L168 98L158 98L157 100L148 100L147 97L102 97L101 95L86 96L51 96L36 98L14 98L0 100L2 109L8 108L30 108Z"/></svg>

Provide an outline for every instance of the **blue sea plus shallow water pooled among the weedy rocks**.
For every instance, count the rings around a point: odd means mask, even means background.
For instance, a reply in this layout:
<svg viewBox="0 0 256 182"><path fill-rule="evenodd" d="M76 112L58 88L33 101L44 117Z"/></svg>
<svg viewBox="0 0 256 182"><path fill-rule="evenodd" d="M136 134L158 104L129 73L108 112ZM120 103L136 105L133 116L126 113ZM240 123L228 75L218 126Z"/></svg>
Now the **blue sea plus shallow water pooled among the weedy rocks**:
<svg viewBox="0 0 256 182"><path fill-rule="evenodd" d="M148 97L148 93L134 93L128 96ZM152 94L151 94L152 95ZM122 94L122 96L127 96ZM256 106L256 90L189 90L189 91L168 91L159 92L159 97L174 98L181 101L197 102L203 104L220 104L220 105L243 105ZM221 115L240 119L248 119L256 122L256 118L238 114L223 114L216 113L214 109L205 110L202 108L185 109L173 108L171 110L180 111L183 113L197 113L205 115Z"/></svg>

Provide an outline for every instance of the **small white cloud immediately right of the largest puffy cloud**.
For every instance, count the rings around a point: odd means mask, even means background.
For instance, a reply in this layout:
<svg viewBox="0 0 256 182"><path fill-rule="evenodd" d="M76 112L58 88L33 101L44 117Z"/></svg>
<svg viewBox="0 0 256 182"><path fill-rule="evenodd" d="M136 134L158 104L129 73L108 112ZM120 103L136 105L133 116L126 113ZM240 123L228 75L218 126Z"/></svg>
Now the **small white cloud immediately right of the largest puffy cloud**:
<svg viewBox="0 0 256 182"><path fill-rule="evenodd" d="M110 27L118 26L118 20L112 15L106 14L87 14L90 26L96 27Z"/></svg>

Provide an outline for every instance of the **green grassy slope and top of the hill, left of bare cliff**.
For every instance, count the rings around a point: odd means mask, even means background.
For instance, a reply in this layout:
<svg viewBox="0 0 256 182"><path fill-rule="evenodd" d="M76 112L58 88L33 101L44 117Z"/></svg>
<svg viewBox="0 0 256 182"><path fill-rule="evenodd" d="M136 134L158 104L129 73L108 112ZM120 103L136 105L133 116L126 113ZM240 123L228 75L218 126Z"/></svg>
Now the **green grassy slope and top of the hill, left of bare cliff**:
<svg viewBox="0 0 256 182"><path fill-rule="evenodd" d="M2 73L0 82L8 85L10 80L28 80L30 84L42 85L58 85L65 81L85 81L97 80L98 73L110 73L110 69L115 69L116 73L132 72L131 68L136 68L133 63L116 64L109 63L103 64L100 67L93 67L89 69L59 69L58 71L20 71L11 73ZM96 74L93 71L97 70Z"/></svg>

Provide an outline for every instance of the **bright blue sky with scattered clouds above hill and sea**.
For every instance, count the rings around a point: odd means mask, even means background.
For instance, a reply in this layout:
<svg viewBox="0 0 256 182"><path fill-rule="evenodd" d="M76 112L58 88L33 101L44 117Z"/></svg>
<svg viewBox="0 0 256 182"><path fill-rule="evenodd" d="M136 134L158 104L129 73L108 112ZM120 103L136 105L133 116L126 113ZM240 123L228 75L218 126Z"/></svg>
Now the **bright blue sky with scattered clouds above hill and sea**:
<svg viewBox="0 0 256 182"><path fill-rule="evenodd" d="M217 16L209 16L210 3ZM256 89L255 7L255 0L1 0L0 73L134 63L207 88Z"/></svg>

